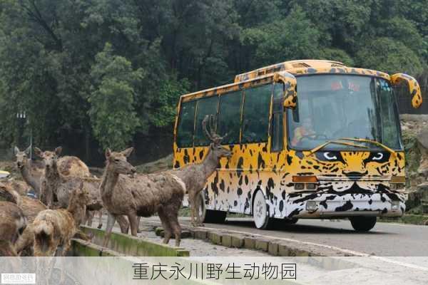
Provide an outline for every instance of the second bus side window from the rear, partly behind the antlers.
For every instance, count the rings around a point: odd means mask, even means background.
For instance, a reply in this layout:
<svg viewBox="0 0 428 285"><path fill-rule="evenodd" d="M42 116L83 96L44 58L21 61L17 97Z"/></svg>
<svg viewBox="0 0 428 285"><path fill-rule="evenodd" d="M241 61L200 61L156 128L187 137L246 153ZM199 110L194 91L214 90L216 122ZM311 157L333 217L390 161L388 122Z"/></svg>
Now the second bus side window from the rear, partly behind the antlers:
<svg viewBox="0 0 428 285"><path fill-rule="evenodd" d="M218 97L207 97L198 100L198 110L196 111L195 122L195 146L209 145L210 140L206 137L202 129L202 120L205 115L217 114Z"/></svg>

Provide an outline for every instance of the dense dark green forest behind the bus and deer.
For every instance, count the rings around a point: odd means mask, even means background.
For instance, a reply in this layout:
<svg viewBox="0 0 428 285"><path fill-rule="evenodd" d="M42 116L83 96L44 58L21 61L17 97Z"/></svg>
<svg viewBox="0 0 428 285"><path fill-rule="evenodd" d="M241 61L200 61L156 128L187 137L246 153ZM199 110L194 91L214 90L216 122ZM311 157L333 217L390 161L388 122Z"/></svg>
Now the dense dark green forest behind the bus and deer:
<svg viewBox="0 0 428 285"><path fill-rule="evenodd" d="M32 130L86 162L127 145L151 160L181 94L302 58L427 86L428 1L1 0L0 147Z"/></svg>

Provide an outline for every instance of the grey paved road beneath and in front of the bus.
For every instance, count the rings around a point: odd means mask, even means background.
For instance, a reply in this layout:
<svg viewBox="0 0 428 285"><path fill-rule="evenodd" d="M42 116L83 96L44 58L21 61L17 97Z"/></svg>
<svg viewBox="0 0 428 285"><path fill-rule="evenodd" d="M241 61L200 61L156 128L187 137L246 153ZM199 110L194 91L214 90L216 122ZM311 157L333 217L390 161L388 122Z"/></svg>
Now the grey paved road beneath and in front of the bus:
<svg viewBox="0 0 428 285"><path fill-rule="evenodd" d="M181 222L188 224L188 218L181 218ZM260 230L251 219L228 218L225 224L205 224L205 227L295 239L382 257L428 257L427 226L378 222L372 231L357 233L347 220L301 219L297 224L275 230Z"/></svg>

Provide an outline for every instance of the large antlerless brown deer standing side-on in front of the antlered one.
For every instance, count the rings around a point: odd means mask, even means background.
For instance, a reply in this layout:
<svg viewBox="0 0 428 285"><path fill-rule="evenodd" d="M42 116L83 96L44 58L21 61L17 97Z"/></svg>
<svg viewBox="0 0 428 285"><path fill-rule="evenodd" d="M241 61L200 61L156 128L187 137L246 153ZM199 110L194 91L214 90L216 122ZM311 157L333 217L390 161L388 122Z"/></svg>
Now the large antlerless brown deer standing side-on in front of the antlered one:
<svg viewBox="0 0 428 285"><path fill-rule="evenodd" d="M156 175L135 175L136 168L128 161L133 148L122 152L106 150L106 169L100 185L104 207L108 211L106 237L103 246L107 247L118 215L128 216L131 234L137 235L137 217L150 217L158 212L168 244L172 234L175 246L180 245L181 227L178 223L178 210L185 193L184 183L171 173ZM129 177L128 175L134 175Z"/></svg>

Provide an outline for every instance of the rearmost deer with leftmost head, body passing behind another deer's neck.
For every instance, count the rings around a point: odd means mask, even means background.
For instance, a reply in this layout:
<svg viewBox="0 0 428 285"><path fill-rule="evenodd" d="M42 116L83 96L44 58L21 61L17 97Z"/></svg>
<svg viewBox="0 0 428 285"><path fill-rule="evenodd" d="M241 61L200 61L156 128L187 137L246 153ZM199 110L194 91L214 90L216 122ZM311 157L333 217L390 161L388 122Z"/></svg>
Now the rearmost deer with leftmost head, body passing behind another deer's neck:
<svg viewBox="0 0 428 285"><path fill-rule="evenodd" d="M37 197L40 195L41 177L44 176L45 165L43 161L29 159L31 147L21 151L18 147L14 147L16 157L16 167L21 172L24 181L30 185ZM39 149L35 150L36 154ZM90 177L88 167L84 162L77 157L64 156L58 159L58 171L64 176Z"/></svg>

